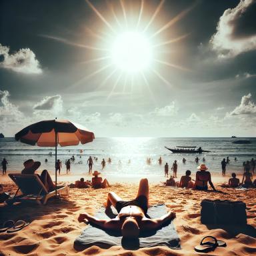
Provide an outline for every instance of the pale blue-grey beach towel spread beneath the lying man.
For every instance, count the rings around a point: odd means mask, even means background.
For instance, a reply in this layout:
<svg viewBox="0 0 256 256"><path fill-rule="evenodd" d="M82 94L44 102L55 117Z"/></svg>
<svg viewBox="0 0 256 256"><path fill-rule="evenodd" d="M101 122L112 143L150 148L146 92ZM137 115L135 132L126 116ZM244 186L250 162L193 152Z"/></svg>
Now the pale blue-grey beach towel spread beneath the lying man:
<svg viewBox="0 0 256 256"><path fill-rule="evenodd" d="M95 217L99 219L112 219L117 215L114 209L111 213L105 213L105 208L102 207L96 213ZM167 213L165 205L153 205L147 211L147 217L151 219L159 218ZM105 231L99 227L88 225L88 227L75 239L74 248L83 250L85 248L97 245L101 248L109 248L115 245L122 246L125 249L139 249L141 247L153 247L157 245L165 245L171 249L181 249L180 239L173 225L167 223L157 231L140 233L139 239L136 241L123 241L121 232Z"/></svg>

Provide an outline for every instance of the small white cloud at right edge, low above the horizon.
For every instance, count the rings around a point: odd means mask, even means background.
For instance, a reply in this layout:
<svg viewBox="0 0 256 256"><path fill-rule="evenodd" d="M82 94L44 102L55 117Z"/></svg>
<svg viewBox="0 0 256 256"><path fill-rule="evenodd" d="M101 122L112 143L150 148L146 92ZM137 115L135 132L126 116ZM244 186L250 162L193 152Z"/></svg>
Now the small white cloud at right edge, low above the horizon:
<svg viewBox="0 0 256 256"><path fill-rule="evenodd" d="M227 113L226 117L231 115L253 115L256 113L256 105L251 101L251 93L244 95L239 106L235 107L231 113Z"/></svg>

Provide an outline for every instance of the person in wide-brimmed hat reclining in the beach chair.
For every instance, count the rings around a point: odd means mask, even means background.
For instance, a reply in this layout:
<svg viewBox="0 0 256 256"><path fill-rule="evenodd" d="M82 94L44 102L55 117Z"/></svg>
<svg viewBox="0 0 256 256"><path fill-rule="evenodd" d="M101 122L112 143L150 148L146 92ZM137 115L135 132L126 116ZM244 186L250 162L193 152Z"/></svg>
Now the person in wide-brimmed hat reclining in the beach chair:
<svg viewBox="0 0 256 256"><path fill-rule="evenodd" d="M25 168L21 171L21 174L34 174L41 165L41 163L39 161L35 162L33 161L33 159L29 159L25 161L23 165ZM38 175L38 177L42 181L43 185L45 185L45 188L48 192L55 189L55 184L53 183L53 180L51 179L51 176L49 175L47 170L43 170L41 175Z"/></svg>

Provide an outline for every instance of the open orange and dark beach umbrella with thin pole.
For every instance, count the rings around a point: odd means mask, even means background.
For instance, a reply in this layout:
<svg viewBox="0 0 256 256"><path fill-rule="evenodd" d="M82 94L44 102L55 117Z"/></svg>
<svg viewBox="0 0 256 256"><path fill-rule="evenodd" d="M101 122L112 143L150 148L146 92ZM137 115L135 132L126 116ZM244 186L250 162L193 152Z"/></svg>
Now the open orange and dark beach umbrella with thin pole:
<svg viewBox="0 0 256 256"><path fill-rule="evenodd" d="M57 145L61 147L93 141L94 133L68 120L45 120L33 123L15 134L15 139L39 147L55 147L55 184L57 186ZM55 189L57 195L57 187Z"/></svg>

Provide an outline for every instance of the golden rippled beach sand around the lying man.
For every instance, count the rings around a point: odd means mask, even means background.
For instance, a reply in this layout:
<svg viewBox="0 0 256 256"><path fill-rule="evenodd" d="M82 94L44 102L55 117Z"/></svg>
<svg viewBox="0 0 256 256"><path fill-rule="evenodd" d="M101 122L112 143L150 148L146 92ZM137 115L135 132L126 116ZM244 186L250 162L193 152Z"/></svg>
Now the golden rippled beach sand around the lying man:
<svg viewBox="0 0 256 256"><path fill-rule="evenodd" d="M66 179L66 178L65 178ZM62 183L66 182L63 179ZM69 179L71 180L71 179ZM9 179L1 179L5 191L15 191ZM138 182L136 182L138 183ZM165 203L168 209L177 213L175 227L181 239L180 250L168 247L143 248L127 251L122 247L101 249L93 246L75 251L73 242L86 227L79 223L79 213L94 214L107 198L109 191L115 191L123 199L132 199L137 193L136 183L115 183L107 189L69 189L69 196L61 200L50 199L47 205L19 203L9 207L0 204L0 224L7 219L30 221L30 225L17 233L0 233L0 255L205 255L196 253L193 247L206 235L213 235L227 242L227 247L218 247L209 255L256 255L256 189L247 191L216 188L223 193L177 189L150 183L150 204ZM229 199L247 204L248 229L225 231L209 229L201 224L202 199ZM254 234L253 234L254 232Z"/></svg>

